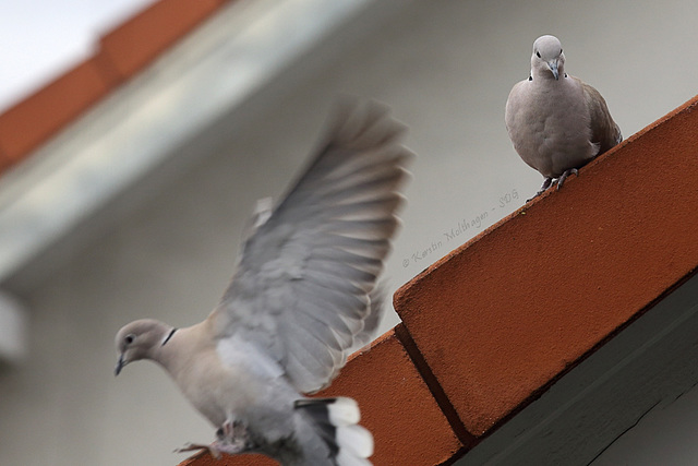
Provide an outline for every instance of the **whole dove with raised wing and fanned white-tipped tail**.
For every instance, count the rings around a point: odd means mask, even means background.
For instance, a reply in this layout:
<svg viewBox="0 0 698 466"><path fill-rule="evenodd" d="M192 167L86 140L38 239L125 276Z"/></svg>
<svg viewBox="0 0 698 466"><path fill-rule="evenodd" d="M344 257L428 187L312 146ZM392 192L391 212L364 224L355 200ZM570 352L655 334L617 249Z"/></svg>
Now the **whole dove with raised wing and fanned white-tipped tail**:
<svg viewBox="0 0 698 466"><path fill-rule="evenodd" d="M377 324L376 277L390 249L411 157L406 128L376 104L338 115L286 199L262 215L206 320L186 328L140 320L119 331L116 374L159 363L217 428L180 451L263 453L284 465L370 465L373 437L329 385ZM368 328L366 326L371 326Z"/></svg>

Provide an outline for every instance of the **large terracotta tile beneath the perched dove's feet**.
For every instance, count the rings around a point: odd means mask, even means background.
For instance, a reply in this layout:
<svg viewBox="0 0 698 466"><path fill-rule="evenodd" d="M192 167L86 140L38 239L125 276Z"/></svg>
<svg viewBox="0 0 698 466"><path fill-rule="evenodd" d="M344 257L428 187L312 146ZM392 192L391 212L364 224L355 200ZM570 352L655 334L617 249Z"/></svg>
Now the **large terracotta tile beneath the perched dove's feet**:
<svg viewBox="0 0 698 466"><path fill-rule="evenodd" d="M696 272L696 108L698 97L396 294L470 434L506 421Z"/></svg>

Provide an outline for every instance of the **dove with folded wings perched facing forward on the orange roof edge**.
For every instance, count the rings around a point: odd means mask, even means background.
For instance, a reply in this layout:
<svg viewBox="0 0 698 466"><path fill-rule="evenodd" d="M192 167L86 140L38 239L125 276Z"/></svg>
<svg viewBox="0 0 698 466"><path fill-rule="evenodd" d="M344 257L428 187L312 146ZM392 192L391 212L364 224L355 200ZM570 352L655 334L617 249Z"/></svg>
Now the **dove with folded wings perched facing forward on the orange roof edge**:
<svg viewBox="0 0 698 466"><path fill-rule="evenodd" d="M601 94L565 73L563 47L554 36L533 43L531 74L512 89L505 121L516 152L545 177L535 195L554 179L562 188L577 168L623 141Z"/></svg>

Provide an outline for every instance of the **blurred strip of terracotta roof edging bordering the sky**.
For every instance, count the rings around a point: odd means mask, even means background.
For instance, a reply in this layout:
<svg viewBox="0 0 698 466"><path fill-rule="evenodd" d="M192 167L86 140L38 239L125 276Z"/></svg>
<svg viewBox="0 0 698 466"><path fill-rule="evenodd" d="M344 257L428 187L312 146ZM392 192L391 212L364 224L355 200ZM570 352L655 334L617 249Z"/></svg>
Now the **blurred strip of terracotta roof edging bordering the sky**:
<svg viewBox="0 0 698 466"><path fill-rule="evenodd" d="M95 55L0 115L0 172L132 77L230 0L159 0L99 41Z"/></svg>

